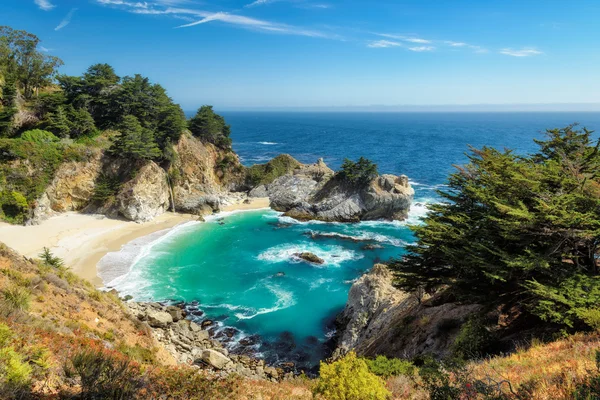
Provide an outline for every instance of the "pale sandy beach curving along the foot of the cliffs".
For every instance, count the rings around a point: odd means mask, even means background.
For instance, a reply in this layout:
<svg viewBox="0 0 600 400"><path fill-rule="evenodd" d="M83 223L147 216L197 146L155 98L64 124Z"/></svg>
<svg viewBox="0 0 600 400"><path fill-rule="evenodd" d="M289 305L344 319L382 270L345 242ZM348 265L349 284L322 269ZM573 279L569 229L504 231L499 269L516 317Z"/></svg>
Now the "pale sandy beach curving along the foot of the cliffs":
<svg viewBox="0 0 600 400"><path fill-rule="evenodd" d="M249 203L225 206L223 211L268 206L268 199L256 198ZM37 257L44 247L48 247L56 256L64 259L77 275L96 286L102 286L96 265L105 254L119 251L123 245L139 237L197 219L195 215L167 212L150 222L135 223L104 215L66 212L33 226L0 222L0 242L26 257Z"/></svg>

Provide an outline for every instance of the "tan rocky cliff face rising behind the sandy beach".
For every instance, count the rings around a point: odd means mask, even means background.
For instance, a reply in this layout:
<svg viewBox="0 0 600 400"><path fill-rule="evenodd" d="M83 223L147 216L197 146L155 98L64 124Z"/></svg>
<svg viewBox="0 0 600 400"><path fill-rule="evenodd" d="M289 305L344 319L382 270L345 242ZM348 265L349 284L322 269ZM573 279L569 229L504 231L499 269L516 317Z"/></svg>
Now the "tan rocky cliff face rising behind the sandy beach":
<svg viewBox="0 0 600 400"><path fill-rule="evenodd" d="M186 134L174 152L176 161L168 173L153 161L132 163L99 149L93 150L87 162L64 163L38 200L29 223L83 209L144 222L169 210L173 203L176 211L209 214L218 211L229 190L243 181L243 168L233 152ZM98 202L94 191L101 179L117 182L118 187Z"/></svg>

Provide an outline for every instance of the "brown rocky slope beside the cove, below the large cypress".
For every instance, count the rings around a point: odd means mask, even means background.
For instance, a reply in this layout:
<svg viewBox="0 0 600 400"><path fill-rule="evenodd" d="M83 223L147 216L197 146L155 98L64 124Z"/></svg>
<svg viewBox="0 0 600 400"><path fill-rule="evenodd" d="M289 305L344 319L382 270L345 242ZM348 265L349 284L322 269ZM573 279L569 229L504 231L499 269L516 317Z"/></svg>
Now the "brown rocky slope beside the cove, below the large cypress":
<svg viewBox="0 0 600 400"><path fill-rule="evenodd" d="M413 358L449 354L460 326L481 309L477 304L419 302L396 289L393 274L377 264L351 287L348 303L338 317L334 356L350 350L367 357Z"/></svg>

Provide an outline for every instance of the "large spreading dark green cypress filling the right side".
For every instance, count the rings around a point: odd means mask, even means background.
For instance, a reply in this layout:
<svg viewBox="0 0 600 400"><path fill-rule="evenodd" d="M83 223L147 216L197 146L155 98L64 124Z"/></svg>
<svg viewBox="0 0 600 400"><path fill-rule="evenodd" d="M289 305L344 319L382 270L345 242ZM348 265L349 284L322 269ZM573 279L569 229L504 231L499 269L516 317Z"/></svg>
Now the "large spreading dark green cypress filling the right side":
<svg viewBox="0 0 600 400"><path fill-rule="evenodd" d="M404 290L447 286L465 301L520 304L567 327L591 327L600 301L600 143L574 126L540 151L484 147L449 178L418 242L392 264Z"/></svg>

